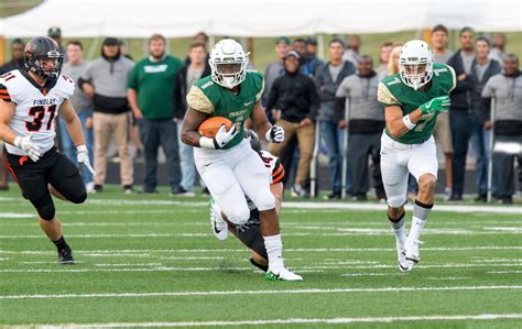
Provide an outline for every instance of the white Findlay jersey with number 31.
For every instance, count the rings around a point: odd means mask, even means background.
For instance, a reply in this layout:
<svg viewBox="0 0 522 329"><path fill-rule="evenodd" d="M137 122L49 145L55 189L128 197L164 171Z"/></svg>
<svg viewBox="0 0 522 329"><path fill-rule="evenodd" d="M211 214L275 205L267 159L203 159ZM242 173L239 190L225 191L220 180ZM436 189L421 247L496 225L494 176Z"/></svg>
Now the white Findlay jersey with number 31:
<svg viewBox="0 0 522 329"><path fill-rule="evenodd" d="M32 133L33 143L47 152L54 145L54 119L59 106L69 99L74 89L74 80L64 75L41 87L25 70L8 72L0 77L0 98L15 103L9 128L21 138ZM6 147L10 154L26 155L17 146L6 144Z"/></svg>

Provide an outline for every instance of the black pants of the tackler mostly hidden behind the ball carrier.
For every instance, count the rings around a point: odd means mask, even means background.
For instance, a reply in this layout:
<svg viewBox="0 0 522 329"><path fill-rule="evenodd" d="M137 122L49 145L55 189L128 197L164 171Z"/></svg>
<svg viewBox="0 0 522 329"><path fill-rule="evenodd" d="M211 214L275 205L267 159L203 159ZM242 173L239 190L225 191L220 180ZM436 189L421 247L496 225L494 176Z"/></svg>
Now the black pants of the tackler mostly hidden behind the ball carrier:
<svg viewBox="0 0 522 329"><path fill-rule="evenodd" d="M265 260L269 259L267 248L264 246L263 234L261 234L261 223L259 220L259 210L250 211L250 218L247 223L238 227L229 226L230 232L236 235L244 245L260 254Z"/></svg>

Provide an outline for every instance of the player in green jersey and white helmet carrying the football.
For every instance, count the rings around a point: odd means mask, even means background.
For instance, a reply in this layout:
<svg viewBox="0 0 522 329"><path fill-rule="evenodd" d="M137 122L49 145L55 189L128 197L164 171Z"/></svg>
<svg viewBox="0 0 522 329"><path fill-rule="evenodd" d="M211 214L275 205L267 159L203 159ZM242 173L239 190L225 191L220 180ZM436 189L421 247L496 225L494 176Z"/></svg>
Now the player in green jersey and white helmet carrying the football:
<svg viewBox="0 0 522 329"><path fill-rule="evenodd" d="M262 160L243 139L244 121L250 118L255 131L267 141L284 141L284 130L271 125L261 107L263 77L258 72L247 70L248 56L231 39L218 42L208 62L211 75L198 80L187 95L182 141L195 147L196 168L230 222L247 223L250 209L246 196L259 209L269 257L265 278L301 281L300 275L283 264L283 244L269 176ZM214 138L203 136L198 127L210 117L228 118L232 127L227 131L221 125Z"/></svg>

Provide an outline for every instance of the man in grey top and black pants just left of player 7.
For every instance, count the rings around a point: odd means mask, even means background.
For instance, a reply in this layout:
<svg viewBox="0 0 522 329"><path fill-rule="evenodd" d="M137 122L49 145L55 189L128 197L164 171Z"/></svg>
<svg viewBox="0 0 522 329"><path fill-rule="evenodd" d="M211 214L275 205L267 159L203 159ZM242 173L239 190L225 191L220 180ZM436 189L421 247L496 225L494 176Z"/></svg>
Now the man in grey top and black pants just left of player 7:
<svg viewBox="0 0 522 329"><path fill-rule="evenodd" d="M352 199L367 200L369 188L368 157L372 161L373 182L377 198L385 200L382 185L380 152L381 135L384 129L384 109L377 100L379 76L373 70L370 56L359 56L357 75L350 75L340 83L336 92L336 119L339 128L348 125L348 150L351 153ZM348 122L345 108L350 107Z"/></svg>

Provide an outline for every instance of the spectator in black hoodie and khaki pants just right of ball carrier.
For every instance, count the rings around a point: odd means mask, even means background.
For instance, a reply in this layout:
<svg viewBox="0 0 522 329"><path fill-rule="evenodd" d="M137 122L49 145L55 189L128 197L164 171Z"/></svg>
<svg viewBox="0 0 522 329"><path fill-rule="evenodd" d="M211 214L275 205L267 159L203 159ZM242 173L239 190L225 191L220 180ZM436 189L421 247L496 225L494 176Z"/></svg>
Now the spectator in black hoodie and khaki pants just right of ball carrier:
<svg viewBox="0 0 522 329"><path fill-rule="evenodd" d="M279 156L285 149L287 141L297 135L300 163L293 190L296 195L307 196L303 184L309 176L309 165L315 144L315 124L319 107L314 80L300 70L300 54L290 51L284 56L286 74L276 78L270 90L267 109L278 110L276 124L286 133L285 141L280 144L270 144L269 151ZM289 169L290 168L285 168Z"/></svg>

